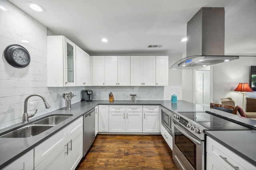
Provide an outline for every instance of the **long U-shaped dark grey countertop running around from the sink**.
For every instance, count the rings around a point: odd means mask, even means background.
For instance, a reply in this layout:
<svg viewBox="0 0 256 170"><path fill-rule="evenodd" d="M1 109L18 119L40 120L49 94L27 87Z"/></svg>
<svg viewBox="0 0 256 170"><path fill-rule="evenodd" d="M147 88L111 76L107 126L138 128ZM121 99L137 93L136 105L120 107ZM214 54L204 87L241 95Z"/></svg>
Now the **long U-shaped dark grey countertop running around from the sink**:
<svg viewBox="0 0 256 170"><path fill-rule="evenodd" d="M84 115L86 112L90 111L93 107L100 105L110 105L110 104L117 104L117 105L161 105L170 111L179 112L179 111L212 111L216 114L228 117L229 119L233 119L234 121L239 121L244 124L253 125L256 127L256 121L251 119L243 119L238 117L237 115L232 115L230 113L226 113L223 111L219 111L216 109L211 109L209 107L204 107L201 105L197 105L191 102L186 102L183 100L178 100L177 103L172 103L170 100L137 100L136 102L131 102L130 100L116 100L114 102L109 102L108 100L93 100L92 102L78 102L72 104L72 109L66 110L63 108L51 111L44 115L40 115L38 117L32 117L29 119L29 123L35 122L38 119L42 119L49 115L56 115L56 114L72 114L70 118L66 119L65 121L55 125L54 127L40 133L39 135L27 138L1 138L0 137L0 169L4 168L29 150L33 149L64 127L68 126L70 123ZM18 127L27 125L18 123L12 125L10 127L6 127L4 129L0 129L0 135L4 134L6 131L10 131L11 129L18 129ZM236 135L237 136L237 135Z"/></svg>

